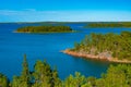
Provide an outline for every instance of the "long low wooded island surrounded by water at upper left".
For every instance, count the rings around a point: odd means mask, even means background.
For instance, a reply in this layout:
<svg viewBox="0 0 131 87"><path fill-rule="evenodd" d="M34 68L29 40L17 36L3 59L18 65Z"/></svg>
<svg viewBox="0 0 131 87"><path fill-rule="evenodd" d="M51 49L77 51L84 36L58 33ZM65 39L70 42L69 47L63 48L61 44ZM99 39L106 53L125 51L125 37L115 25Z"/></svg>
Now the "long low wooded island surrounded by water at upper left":
<svg viewBox="0 0 131 87"><path fill-rule="evenodd" d="M73 32L69 26L25 26L20 27L15 33L69 33Z"/></svg>

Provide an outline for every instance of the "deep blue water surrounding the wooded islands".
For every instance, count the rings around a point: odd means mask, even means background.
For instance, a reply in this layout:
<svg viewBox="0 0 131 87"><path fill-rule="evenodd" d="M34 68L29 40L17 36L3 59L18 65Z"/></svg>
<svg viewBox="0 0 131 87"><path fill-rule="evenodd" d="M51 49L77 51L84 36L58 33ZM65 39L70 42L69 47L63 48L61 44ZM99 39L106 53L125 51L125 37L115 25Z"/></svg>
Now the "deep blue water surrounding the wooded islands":
<svg viewBox="0 0 131 87"><path fill-rule="evenodd" d="M74 72L85 76L99 77L105 73L110 63L74 58L60 52L73 48L74 41L81 41L91 33L117 33L131 30L131 28L83 28L84 24L67 24L80 33L60 34L16 34L12 33L17 27L38 24L0 24L0 72L10 79L20 75L22 71L23 54L27 54L29 69L36 60L46 60L51 67L57 66L59 76L64 79Z"/></svg>

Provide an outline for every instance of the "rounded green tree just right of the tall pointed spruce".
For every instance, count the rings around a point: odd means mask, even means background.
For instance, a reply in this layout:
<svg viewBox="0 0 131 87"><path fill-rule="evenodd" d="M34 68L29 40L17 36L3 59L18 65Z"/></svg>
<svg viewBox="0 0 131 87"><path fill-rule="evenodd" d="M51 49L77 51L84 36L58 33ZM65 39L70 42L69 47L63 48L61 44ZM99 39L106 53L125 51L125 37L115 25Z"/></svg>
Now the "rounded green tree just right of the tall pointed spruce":
<svg viewBox="0 0 131 87"><path fill-rule="evenodd" d="M37 61L35 66L34 75L34 85L38 85L40 87L51 87L51 70L50 66L46 62Z"/></svg>

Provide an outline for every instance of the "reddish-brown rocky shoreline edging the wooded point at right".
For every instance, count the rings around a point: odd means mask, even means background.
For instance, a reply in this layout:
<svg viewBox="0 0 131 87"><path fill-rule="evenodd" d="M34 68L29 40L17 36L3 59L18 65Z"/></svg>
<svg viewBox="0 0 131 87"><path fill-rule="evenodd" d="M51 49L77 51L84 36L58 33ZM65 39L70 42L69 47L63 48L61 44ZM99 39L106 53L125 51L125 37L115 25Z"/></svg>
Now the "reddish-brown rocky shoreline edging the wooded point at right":
<svg viewBox="0 0 131 87"><path fill-rule="evenodd" d="M62 52L73 57L80 57L84 59L93 59L93 60L100 60L100 61L108 61L108 62L116 62L116 63L131 63L131 61L128 61L128 60L118 60L117 58L106 58L106 57L86 54L82 52L72 51L70 49L63 50Z"/></svg>

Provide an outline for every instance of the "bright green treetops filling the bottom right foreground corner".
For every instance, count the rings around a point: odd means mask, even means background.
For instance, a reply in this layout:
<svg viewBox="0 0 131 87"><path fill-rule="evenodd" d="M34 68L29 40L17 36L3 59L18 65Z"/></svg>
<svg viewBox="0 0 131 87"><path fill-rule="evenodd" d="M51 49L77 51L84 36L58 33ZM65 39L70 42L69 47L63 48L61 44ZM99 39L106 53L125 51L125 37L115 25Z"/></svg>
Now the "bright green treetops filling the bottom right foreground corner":
<svg viewBox="0 0 131 87"><path fill-rule="evenodd" d="M80 73L70 75L63 87L131 87L131 65L110 65L100 78L84 77Z"/></svg>

